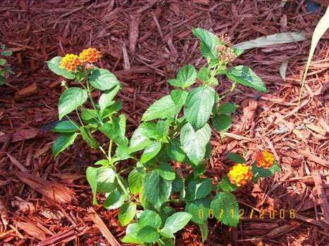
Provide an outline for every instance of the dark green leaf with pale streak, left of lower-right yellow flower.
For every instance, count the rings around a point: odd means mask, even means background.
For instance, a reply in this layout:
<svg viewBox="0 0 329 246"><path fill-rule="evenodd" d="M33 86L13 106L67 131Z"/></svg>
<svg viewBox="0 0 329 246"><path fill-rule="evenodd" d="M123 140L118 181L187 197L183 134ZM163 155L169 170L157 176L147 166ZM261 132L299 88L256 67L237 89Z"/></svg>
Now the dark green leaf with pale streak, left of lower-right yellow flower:
<svg viewBox="0 0 329 246"><path fill-rule="evenodd" d="M205 198L213 189L212 179L196 179L190 181L186 188L185 200L188 202Z"/></svg>

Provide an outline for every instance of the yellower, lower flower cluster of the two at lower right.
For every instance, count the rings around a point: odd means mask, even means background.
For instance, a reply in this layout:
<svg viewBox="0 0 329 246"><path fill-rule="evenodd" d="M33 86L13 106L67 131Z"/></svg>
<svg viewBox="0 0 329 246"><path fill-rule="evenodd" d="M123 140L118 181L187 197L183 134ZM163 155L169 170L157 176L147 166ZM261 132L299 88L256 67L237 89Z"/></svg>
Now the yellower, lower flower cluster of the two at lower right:
<svg viewBox="0 0 329 246"><path fill-rule="evenodd" d="M247 181L252 180L252 176L254 176L252 168L244 163L235 164L233 167L230 167L230 171L228 172L228 179L237 186L244 186Z"/></svg>

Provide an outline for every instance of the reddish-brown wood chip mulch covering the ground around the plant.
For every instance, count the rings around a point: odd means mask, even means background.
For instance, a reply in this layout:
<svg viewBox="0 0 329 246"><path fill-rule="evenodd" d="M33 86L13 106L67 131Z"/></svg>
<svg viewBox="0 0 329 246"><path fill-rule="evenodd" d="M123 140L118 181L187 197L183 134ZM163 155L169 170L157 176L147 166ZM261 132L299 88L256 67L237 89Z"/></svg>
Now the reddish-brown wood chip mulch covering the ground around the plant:
<svg viewBox="0 0 329 246"><path fill-rule="evenodd" d="M234 44L279 32L306 32L316 27L325 9L308 13L304 1L1 1L1 42L13 51L8 64L16 72L0 87L0 244L114 245L125 235L118 209L92 207L85 169L101 156L81 139L58 156L51 154L63 78L45 61L89 46L101 50L97 64L113 72L123 89L127 132L131 136L148 106L169 93L166 82L191 63L206 63L192 27L228 33ZM217 150L206 176L221 179L232 163L227 153L258 149L274 153L282 171L235 192L244 218L237 228L209 220L205 245L328 245L328 32L318 44L297 101L310 41L253 48L235 65L252 67L269 93L237 86L225 102L241 105L224 140L213 131ZM290 58L287 79L279 74ZM218 93L230 89L219 78ZM27 89L26 89L27 88ZM21 91L25 89L25 91ZM94 94L95 97L99 96ZM274 134L273 130L285 129ZM106 138L97 136L105 145ZM120 168L135 164L120 163ZM104 195L98 196L104 201ZM100 202L101 203L101 202ZM254 209L254 216L249 218ZM259 218L265 209L264 219ZM285 209L285 218L269 216ZM290 219L290 209L295 218ZM103 224L102 222L103 221ZM111 236L114 238L111 238ZM178 233L176 245L201 245L197 226Z"/></svg>

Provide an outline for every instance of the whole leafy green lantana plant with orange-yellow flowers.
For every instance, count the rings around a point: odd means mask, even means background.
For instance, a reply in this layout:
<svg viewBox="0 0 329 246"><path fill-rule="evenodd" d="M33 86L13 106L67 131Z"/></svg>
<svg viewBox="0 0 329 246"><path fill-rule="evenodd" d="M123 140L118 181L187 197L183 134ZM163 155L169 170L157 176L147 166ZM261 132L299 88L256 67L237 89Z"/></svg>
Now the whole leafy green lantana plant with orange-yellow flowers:
<svg viewBox="0 0 329 246"><path fill-rule="evenodd" d="M193 65L185 65L169 79L173 86L170 95L144 112L130 139L125 136L125 115L118 115L122 103L113 100L120 83L111 72L94 65L101 57L96 48L47 62L56 75L80 84L68 88L63 82L66 91L59 98L58 113L59 119L68 120L52 129L61 133L53 145L54 157L78 135L104 153L104 159L87 168L87 181L94 205L96 194L105 193L104 207L119 208L120 224L128 225L123 242L174 245L175 233L190 221L199 225L204 241L210 215L227 226L239 223L239 206L232 191L280 171L271 153L257 152L252 166L241 155L229 153L235 164L221 181L204 175L212 155L211 127L225 134L232 123L230 114L238 107L222 103L223 98L237 84L263 92L266 86L249 67L228 67L243 51L230 48L227 35L217 37L200 28L192 32L201 40L201 53L208 66L197 71ZM219 96L217 77L222 75L232 80L232 88ZM94 90L101 91L97 103L91 96ZM77 114L79 122L71 119L71 112ZM108 143L97 141L94 136L98 131L108 137ZM135 165L123 169L120 162L128 159Z"/></svg>

